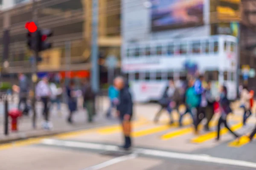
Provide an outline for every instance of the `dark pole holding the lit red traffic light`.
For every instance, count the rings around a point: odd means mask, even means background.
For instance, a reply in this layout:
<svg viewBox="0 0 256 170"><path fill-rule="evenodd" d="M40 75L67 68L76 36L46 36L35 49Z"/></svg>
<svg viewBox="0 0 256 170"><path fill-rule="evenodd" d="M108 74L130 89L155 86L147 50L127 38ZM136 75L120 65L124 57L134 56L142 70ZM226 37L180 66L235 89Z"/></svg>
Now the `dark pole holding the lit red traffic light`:
<svg viewBox="0 0 256 170"><path fill-rule="evenodd" d="M37 9L37 3L36 0L32 0L32 14L33 14L33 21L37 24L38 20L38 9ZM32 43L37 43L35 42L36 39L36 34L33 34L34 37L32 37ZM33 119L32 119L32 124L33 127L36 128L36 109L35 109L35 86L36 86L36 77L37 77L37 58L38 58L38 51L35 50L35 54L32 56L32 89L33 89L33 97L32 97L32 108L33 108Z"/></svg>

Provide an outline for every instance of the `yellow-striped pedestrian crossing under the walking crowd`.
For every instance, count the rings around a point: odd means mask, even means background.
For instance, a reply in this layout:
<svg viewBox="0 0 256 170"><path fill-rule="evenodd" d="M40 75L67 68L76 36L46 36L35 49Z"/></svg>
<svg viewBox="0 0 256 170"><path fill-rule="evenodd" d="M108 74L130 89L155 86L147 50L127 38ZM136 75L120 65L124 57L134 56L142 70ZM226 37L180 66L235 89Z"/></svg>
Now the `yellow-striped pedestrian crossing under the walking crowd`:
<svg viewBox="0 0 256 170"><path fill-rule="evenodd" d="M249 119L247 124L254 126L254 121L254 119ZM215 142L215 138L217 137L217 132L215 131L217 124L218 116L214 116L213 120L209 124L211 131L204 131L204 125L199 125L199 134L195 134L194 127L192 126L192 119L190 119L189 115L184 117L182 127L179 127L177 122L169 125L168 119L162 120L158 124L155 124L147 119L139 119L132 122L131 136L135 141L154 140L156 142L160 142L161 144L172 144L173 140L181 143L184 139L187 139L190 144L207 144L207 142ZM228 124L230 125L231 130L239 131L239 134L242 134L241 131L244 131L242 116L230 115L228 117ZM91 132L93 133L82 134L83 139L86 135L88 135L85 137L86 139L90 139L90 136L93 135L91 138L93 140L109 139L116 141L119 140L119 136L122 136L122 127L120 125L100 127L95 130L91 130ZM223 126L220 134L221 138L224 139L224 136L229 135L229 131ZM97 138L97 136L99 136L99 138ZM232 141L232 137L233 136L230 135L228 138L221 140L217 144L226 144L227 147L241 147L249 142L249 140L243 136L240 138L240 143L238 144L237 140Z"/></svg>

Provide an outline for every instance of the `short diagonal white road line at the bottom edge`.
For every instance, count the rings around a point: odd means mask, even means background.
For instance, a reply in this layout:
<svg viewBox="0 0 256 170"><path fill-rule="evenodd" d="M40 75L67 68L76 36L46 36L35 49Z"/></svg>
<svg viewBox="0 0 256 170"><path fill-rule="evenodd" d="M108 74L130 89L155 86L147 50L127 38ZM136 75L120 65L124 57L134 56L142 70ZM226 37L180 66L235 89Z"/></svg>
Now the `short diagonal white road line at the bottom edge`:
<svg viewBox="0 0 256 170"><path fill-rule="evenodd" d="M102 169L104 167L108 167L110 165L117 164L117 163L122 162L122 161L127 161L129 159L134 159L137 156L138 155L135 154L135 153L132 153L130 155L125 155L125 156L120 156L120 157L117 157L117 158L114 158L114 159L102 162L101 164L97 164L97 165L92 166L92 167L87 167L87 168L85 168L83 170L100 170L100 169Z"/></svg>

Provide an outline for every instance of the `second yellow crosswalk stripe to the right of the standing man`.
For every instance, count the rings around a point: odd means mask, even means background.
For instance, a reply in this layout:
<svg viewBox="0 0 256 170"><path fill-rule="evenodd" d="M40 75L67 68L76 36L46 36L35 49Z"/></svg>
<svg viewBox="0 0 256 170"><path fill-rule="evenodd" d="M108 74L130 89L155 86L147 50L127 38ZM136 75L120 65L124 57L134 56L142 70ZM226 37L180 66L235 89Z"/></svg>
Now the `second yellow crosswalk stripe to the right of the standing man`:
<svg viewBox="0 0 256 170"><path fill-rule="evenodd" d="M212 127L212 126L214 126L214 125L216 125L216 124L217 124L216 121L215 121L215 122L210 122L210 125L209 125L209 126ZM198 130L201 130L202 127L203 127L202 125L199 125ZM182 129L180 129L180 130L175 130L175 131L173 131L173 132L164 134L163 136L161 136L161 139L162 139L162 140L169 140L169 139L175 138L175 137L177 137L177 136L181 136L181 135L184 135L184 134L191 133L191 132L193 132L193 130L194 130L194 127L182 128Z"/></svg>

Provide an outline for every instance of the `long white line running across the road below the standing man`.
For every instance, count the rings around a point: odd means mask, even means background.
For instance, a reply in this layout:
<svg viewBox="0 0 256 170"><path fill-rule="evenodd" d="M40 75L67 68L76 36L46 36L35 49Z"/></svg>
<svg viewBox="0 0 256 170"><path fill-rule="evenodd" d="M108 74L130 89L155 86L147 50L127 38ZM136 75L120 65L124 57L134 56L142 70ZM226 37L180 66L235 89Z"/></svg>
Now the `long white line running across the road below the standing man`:
<svg viewBox="0 0 256 170"><path fill-rule="evenodd" d="M42 144L65 146L65 147L79 147L79 148L87 148L87 149L94 149L94 150L119 151L119 147L115 145L93 144L89 142L61 141L57 139L44 139L42 140ZM164 157L164 158L185 159L185 160L191 160L191 161L202 161L202 162L209 162L209 163L256 168L256 163L254 162L241 161L241 160L235 160L235 159L224 159L224 158L212 157L208 155L175 153L175 152L169 152L169 151L143 149L143 148L135 149L134 153L148 155L148 156L158 156L158 157Z"/></svg>

